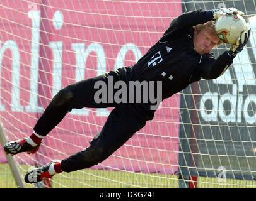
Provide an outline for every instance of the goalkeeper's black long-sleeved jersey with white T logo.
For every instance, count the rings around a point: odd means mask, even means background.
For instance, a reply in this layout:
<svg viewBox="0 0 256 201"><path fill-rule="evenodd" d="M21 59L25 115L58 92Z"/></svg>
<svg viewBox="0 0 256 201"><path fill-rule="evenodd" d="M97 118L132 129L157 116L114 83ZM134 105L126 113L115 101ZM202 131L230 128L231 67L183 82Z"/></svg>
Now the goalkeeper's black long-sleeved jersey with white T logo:
<svg viewBox="0 0 256 201"><path fill-rule="evenodd" d="M162 81L166 99L189 84L219 77L234 57L224 52L217 59L212 53L200 55L194 50L194 26L212 20L212 11L183 13L172 20L160 40L132 67L132 77L139 81Z"/></svg>

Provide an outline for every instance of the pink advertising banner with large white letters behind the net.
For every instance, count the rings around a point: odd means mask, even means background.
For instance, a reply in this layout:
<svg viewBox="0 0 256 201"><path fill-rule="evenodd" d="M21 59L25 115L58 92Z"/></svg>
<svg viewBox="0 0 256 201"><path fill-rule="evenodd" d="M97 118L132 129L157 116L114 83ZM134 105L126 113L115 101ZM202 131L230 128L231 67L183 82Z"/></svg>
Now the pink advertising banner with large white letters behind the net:
<svg viewBox="0 0 256 201"><path fill-rule="evenodd" d="M154 45L180 0L8 1L0 6L0 121L8 139L28 136L52 97L66 85L133 65ZM96 168L173 173L178 170L180 95ZM89 146L110 109L67 114L36 155L20 163L64 159ZM6 162L0 148L0 162Z"/></svg>

